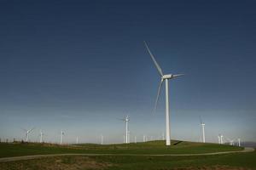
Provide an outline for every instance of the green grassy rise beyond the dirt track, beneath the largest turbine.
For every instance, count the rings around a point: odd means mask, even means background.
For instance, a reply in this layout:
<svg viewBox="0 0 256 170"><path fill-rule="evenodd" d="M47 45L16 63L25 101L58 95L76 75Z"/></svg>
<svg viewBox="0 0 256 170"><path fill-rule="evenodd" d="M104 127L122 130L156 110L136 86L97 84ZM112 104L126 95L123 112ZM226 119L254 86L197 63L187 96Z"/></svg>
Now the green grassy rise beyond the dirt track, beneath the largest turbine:
<svg viewBox="0 0 256 170"><path fill-rule="evenodd" d="M45 154L195 154L218 151L242 150L241 147L219 144L201 144L172 141L166 146L164 141L137 144L79 144L61 146L57 144L5 144L0 143L0 157L32 156Z"/></svg>

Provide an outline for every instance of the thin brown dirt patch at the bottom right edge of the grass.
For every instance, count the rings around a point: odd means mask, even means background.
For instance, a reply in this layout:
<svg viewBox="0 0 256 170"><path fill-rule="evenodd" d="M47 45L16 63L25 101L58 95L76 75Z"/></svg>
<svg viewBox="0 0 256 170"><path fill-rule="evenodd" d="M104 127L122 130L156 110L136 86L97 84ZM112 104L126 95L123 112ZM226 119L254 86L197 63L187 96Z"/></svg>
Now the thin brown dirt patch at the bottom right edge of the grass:
<svg viewBox="0 0 256 170"><path fill-rule="evenodd" d="M246 167L230 167L230 166L203 166L203 167L177 167L172 170L251 170Z"/></svg>

